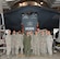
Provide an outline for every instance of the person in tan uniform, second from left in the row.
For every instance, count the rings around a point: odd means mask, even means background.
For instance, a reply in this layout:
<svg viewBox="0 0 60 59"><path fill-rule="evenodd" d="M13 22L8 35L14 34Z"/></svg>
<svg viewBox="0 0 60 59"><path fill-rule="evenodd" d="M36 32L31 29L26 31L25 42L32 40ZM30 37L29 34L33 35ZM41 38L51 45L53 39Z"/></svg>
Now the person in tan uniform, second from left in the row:
<svg viewBox="0 0 60 59"><path fill-rule="evenodd" d="M15 31L13 31L13 33L12 33L12 55L17 55L17 51L16 51L16 40L17 40L17 38L16 38L16 33L15 33Z"/></svg>

